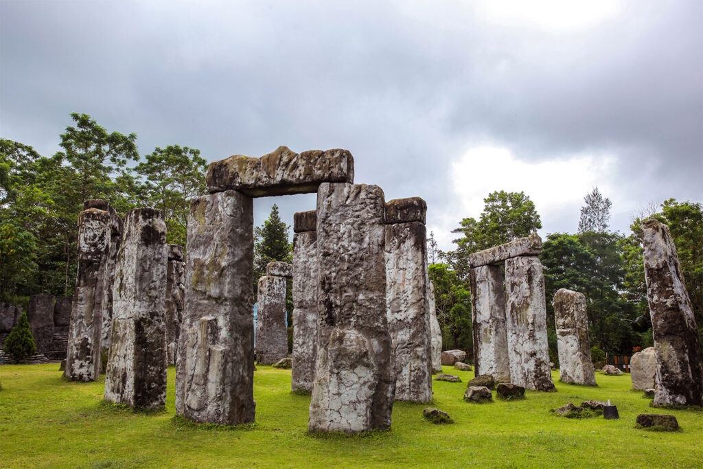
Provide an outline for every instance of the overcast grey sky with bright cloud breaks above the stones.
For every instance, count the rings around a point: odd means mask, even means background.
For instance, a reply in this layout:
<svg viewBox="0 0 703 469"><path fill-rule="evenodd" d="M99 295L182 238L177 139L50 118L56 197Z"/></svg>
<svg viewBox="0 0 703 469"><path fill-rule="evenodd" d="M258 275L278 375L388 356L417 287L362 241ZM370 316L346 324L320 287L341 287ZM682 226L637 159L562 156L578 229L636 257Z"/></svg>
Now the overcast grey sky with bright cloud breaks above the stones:
<svg viewBox="0 0 703 469"><path fill-rule="evenodd" d="M209 161L347 148L356 182L427 200L440 247L491 191L541 235L583 195L612 228L703 201L703 1L0 0L0 136L51 155L70 113ZM314 195L263 198L293 212Z"/></svg>

